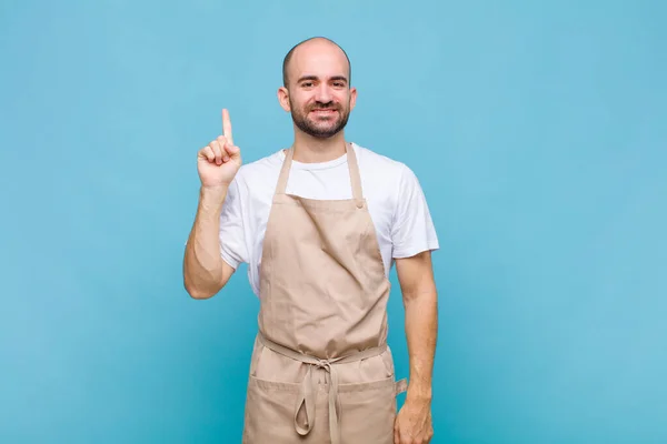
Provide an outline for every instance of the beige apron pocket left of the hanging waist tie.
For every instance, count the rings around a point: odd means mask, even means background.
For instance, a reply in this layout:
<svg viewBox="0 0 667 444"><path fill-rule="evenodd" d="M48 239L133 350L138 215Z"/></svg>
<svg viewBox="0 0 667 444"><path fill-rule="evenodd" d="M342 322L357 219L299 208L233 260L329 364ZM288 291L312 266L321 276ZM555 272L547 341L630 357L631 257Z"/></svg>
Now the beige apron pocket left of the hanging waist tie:
<svg viewBox="0 0 667 444"><path fill-rule="evenodd" d="M299 384L260 380L250 375L246 396L243 444L293 443L295 408Z"/></svg>

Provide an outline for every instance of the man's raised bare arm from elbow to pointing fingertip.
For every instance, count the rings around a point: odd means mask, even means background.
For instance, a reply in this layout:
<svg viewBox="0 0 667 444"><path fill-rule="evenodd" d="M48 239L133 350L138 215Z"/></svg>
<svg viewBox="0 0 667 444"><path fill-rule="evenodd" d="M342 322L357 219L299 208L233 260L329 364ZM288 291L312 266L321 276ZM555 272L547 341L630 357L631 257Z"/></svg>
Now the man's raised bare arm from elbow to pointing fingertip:
<svg viewBox="0 0 667 444"><path fill-rule="evenodd" d="M222 135L197 154L199 205L183 258L183 284L195 299L213 296L233 274L220 256L220 213L240 167L241 153L233 144L229 112L222 110Z"/></svg>

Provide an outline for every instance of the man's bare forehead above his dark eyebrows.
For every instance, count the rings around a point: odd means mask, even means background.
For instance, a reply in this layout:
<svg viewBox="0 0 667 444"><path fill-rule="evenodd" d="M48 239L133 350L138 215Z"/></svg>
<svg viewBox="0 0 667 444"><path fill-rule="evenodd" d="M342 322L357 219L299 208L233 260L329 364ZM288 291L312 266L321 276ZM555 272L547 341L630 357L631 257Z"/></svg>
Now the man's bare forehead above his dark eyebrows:
<svg viewBox="0 0 667 444"><path fill-rule="evenodd" d="M292 79L301 75L321 78L345 75L347 78L349 67L340 48L328 42L312 41L295 50L289 71Z"/></svg>

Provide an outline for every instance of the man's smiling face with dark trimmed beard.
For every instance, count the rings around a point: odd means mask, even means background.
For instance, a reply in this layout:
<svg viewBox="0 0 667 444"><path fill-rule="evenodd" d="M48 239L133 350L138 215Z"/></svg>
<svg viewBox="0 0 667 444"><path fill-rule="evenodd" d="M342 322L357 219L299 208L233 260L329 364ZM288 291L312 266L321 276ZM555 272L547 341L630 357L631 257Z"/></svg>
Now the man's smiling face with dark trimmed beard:
<svg viewBox="0 0 667 444"><path fill-rule="evenodd" d="M295 124L318 139L330 138L345 128L356 100L345 54L322 42L297 49L290 61L288 91Z"/></svg>

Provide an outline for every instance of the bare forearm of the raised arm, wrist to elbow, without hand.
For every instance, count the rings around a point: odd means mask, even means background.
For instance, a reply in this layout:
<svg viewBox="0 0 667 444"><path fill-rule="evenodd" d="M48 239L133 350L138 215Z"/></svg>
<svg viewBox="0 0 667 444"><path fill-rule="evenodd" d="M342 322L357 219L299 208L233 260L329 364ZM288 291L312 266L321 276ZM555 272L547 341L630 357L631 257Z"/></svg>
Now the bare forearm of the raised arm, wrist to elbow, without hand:
<svg viewBox="0 0 667 444"><path fill-rule="evenodd" d="M186 290L195 299L215 295L226 283L220 258L220 213L227 186L201 188L183 258Z"/></svg>

